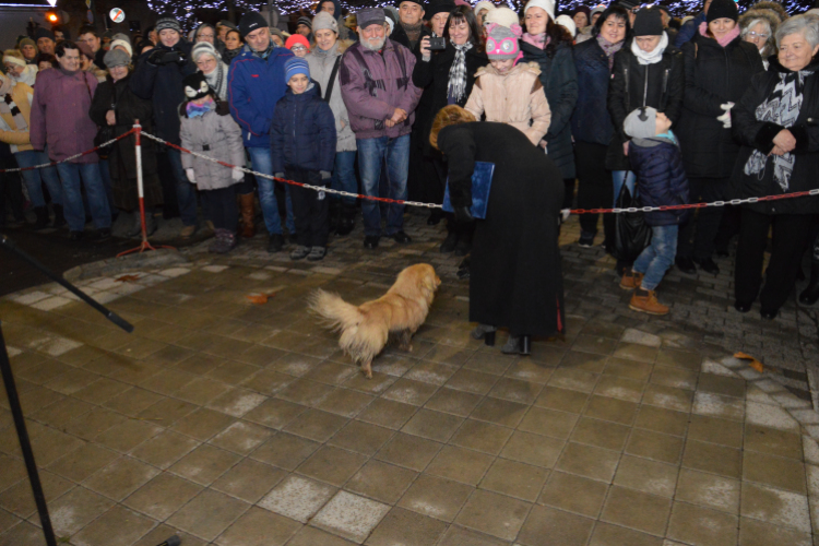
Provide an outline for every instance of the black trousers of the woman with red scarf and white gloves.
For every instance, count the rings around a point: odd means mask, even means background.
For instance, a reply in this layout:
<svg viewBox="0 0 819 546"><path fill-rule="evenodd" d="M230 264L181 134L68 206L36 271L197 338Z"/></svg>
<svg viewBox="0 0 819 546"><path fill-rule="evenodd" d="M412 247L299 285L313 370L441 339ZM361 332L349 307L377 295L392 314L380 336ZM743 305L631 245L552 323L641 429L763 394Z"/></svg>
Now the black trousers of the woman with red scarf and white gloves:
<svg viewBox="0 0 819 546"><path fill-rule="evenodd" d="M728 178L689 178L689 202L710 203L725 199ZM722 222L722 207L697 209L680 227L677 238L677 258L705 260L714 253L714 240Z"/></svg>

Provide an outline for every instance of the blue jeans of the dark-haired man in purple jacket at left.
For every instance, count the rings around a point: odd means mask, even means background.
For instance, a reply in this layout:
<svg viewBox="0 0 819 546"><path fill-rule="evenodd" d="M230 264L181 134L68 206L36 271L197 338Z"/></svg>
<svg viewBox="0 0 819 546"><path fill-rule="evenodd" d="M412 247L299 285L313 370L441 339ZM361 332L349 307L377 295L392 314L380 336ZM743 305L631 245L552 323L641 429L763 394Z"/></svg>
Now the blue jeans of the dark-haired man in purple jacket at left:
<svg viewBox="0 0 819 546"><path fill-rule="evenodd" d="M108 207L108 197L105 194L103 177L99 175L99 165L96 163L61 163L57 165L57 171L62 180L62 199L66 222L72 232L82 232L85 228L85 207L83 206L83 194L80 179L85 187L88 198L91 217L97 229L111 227L111 211Z"/></svg>

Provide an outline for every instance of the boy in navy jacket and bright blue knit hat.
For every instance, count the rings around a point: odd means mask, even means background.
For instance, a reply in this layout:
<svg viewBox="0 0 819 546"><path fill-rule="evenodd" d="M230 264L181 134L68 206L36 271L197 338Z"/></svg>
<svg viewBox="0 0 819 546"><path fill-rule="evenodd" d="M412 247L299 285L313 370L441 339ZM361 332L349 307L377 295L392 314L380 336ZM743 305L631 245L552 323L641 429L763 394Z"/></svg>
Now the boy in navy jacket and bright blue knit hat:
<svg viewBox="0 0 819 546"><path fill-rule="evenodd" d="M333 111L310 81L305 59L287 59L284 71L289 90L276 103L270 128L273 173L276 178L327 187L335 159ZM290 260L322 260L330 229L327 194L292 186L290 195L297 242Z"/></svg>

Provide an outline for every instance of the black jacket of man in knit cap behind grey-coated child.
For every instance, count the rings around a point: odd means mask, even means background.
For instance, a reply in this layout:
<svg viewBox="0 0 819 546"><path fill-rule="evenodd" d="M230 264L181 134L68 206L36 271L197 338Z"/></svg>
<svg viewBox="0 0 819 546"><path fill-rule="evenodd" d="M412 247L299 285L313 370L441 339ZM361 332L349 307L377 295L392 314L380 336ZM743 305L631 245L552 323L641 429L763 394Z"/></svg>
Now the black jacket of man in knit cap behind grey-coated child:
<svg viewBox="0 0 819 546"><path fill-rule="evenodd" d="M167 51L181 51L187 60L182 66L177 63L157 67L147 62L153 49L142 54L136 61L136 68L129 80L131 91L140 97L147 98L154 105L154 126L156 135L173 144L179 144L179 116L177 108L185 100L182 80L186 75L197 71L195 64L190 57L191 44L185 38L174 47L163 46L156 49Z"/></svg>

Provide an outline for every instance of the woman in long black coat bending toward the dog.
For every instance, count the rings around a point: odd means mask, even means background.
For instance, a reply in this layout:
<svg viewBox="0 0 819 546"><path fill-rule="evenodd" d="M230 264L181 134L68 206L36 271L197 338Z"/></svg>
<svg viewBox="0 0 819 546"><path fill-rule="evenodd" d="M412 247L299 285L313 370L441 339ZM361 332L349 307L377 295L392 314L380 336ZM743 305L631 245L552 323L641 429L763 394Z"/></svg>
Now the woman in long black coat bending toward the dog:
<svg viewBox="0 0 819 546"><path fill-rule="evenodd" d="M461 110L460 112L458 110ZM464 115L465 114L465 115ZM485 219L475 222L470 276L473 337L508 328L505 353L529 354L530 336L565 333L563 285L557 245L563 181L554 162L519 129L463 122L458 106L439 112L437 146L449 164L456 219L468 216L475 162L495 165ZM472 118L474 119L474 118Z"/></svg>

